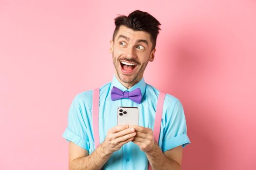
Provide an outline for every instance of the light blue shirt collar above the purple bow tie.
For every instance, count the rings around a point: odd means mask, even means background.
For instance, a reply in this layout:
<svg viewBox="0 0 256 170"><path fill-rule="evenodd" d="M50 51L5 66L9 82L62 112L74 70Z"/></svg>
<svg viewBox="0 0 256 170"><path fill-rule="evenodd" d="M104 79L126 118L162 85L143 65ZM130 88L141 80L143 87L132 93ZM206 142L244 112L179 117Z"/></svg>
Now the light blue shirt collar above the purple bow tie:
<svg viewBox="0 0 256 170"><path fill-rule="evenodd" d="M112 89L113 86L118 87L122 91L128 91L128 92L133 91L136 88L140 88L142 97L144 96L146 91L146 83L144 78L142 78L136 85L133 85L130 89L128 89L118 81L118 79L116 78L116 75L114 74L110 89Z"/></svg>

